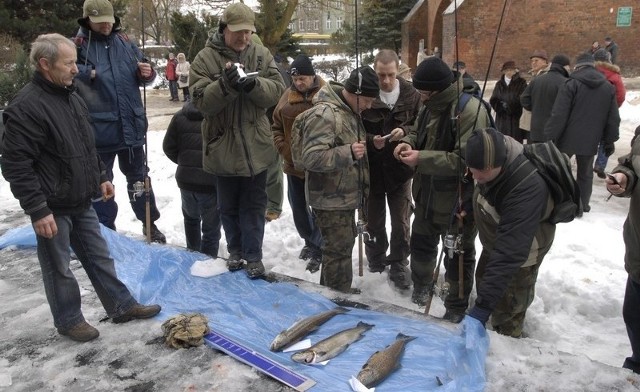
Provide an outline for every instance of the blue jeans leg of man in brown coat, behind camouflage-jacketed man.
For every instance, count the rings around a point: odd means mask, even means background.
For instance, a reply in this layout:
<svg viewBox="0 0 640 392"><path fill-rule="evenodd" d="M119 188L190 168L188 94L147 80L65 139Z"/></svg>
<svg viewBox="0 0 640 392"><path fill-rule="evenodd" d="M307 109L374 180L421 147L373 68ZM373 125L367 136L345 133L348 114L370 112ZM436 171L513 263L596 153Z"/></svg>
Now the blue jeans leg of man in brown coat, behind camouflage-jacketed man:
<svg viewBox="0 0 640 392"><path fill-rule="evenodd" d="M322 234L320 234L315 216L311 213L307 203L304 183L305 180L302 178L287 174L287 196L289 197L289 205L291 205L293 223L306 246L320 249L322 247Z"/></svg>

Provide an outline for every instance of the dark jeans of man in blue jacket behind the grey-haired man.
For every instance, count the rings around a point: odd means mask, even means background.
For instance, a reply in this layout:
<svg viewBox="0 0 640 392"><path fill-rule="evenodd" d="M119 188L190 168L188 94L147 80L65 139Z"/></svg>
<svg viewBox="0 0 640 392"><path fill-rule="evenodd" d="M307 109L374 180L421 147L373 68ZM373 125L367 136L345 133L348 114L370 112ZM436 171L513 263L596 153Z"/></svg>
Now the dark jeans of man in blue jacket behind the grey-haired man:
<svg viewBox="0 0 640 392"><path fill-rule="evenodd" d="M113 181L113 163L118 157L118 166L120 171L127 177L127 191L129 193L129 201L131 208L136 214L136 218L141 222L145 222L145 203L146 196L142 192L141 195L134 195L133 184L140 181L144 184L144 176L146 174L144 165L144 149L142 146L133 147L130 150L120 150L114 152L100 153L100 159L104 162L107 169L107 177L109 181ZM153 189L149 192L149 204L151 211L151 222L155 222L160 218L160 211L156 207L156 198L153 195ZM116 229L116 217L118 216L118 204L115 198L107 201L96 201L93 208L98 214L100 223L107 226L111 230Z"/></svg>

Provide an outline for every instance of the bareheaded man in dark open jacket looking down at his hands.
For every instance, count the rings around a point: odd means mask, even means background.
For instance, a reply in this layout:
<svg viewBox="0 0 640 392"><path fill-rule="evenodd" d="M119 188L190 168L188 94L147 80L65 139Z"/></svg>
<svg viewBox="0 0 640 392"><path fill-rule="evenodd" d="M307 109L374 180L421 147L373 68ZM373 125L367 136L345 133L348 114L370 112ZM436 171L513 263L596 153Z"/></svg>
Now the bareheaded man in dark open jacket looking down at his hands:
<svg viewBox="0 0 640 392"><path fill-rule="evenodd" d="M398 289L406 290L411 286L407 265L413 169L395 159L393 149L405 136L399 127L413 120L420 109L420 94L411 83L397 77L399 62L393 50L382 49L376 54L373 69L380 82L380 97L371 109L362 112L371 181L367 198L367 232L375 238L375 241L367 241L365 250L369 271L383 272L388 265L389 278ZM385 224L387 204L391 218L390 238Z"/></svg>

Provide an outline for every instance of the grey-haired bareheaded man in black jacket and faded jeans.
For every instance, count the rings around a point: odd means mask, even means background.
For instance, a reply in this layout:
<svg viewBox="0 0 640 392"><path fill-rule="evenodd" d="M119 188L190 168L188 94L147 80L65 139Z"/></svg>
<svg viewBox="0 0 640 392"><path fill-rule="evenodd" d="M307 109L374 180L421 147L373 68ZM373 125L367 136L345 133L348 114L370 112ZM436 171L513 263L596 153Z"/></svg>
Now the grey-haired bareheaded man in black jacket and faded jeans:
<svg viewBox="0 0 640 392"><path fill-rule="evenodd" d="M153 317L159 305L140 305L116 276L91 200L112 198L113 185L96 152L89 112L73 85L76 47L60 34L31 46L36 72L3 114L2 174L31 217L45 293L58 333L76 341L99 336L80 309L80 288L69 263L73 249L115 323Z"/></svg>

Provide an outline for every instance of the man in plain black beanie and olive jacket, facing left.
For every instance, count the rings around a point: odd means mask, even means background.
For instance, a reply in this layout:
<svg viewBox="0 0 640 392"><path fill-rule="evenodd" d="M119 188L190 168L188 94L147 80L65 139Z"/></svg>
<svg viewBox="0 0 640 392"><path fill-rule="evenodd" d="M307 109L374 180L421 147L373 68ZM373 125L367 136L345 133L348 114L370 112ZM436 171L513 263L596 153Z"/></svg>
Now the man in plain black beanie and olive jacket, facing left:
<svg viewBox="0 0 640 392"><path fill-rule="evenodd" d="M458 107L462 94L462 78L439 58L430 57L420 63L413 86L420 92L422 107L411 126L402 126L405 136L394 150L394 156L414 168L413 199L416 203L411 232L411 300L424 306L433 295L438 243L445 234L462 234L463 297L459 298L459 257L445 255L446 282L451 289L445 299L445 318L460 322L469 303L475 267L476 228L473 216L467 214L473 184L465 180L462 151L471 132L490 125L489 114L479 99L471 97L464 108ZM458 118L458 121L452 121ZM459 233L462 219L462 232ZM448 253L448 252L445 252Z"/></svg>

